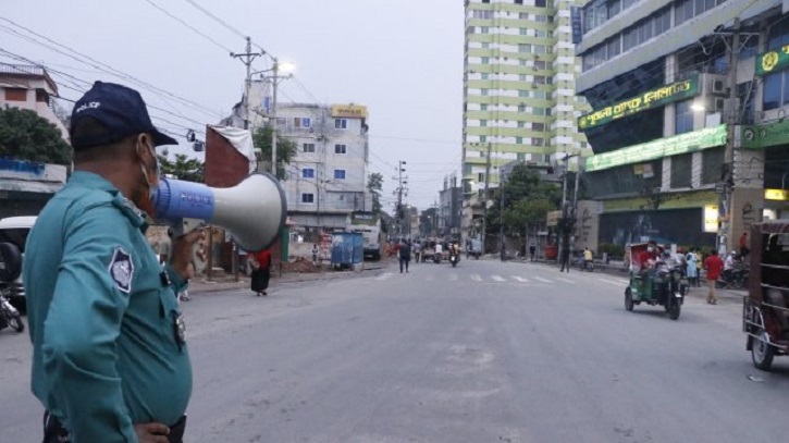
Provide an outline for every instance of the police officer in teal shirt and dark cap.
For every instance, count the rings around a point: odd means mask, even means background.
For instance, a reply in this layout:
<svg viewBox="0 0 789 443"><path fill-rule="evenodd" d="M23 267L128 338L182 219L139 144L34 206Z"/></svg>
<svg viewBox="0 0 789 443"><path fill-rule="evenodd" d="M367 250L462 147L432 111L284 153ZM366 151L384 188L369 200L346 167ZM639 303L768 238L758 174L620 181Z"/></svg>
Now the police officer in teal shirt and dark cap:
<svg viewBox="0 0 789 443"><path fill-rule="evenodd" d="M145 235L155 147L176 141L136 90L101 82L74 104L70 135L75 171L25 250L45 442L180 442L192 366L176 296L202 233L175 238L164 268Z"/></svg>

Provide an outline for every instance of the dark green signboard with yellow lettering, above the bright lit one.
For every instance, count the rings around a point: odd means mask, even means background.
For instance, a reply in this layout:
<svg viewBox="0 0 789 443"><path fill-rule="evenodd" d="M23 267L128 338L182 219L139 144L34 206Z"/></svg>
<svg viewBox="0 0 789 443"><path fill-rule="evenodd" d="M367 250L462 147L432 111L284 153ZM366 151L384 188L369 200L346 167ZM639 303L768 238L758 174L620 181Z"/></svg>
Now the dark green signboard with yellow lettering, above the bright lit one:
<svg viewBox="0 0 789 443"><path fill-rule="evenodd" d="M605 107L599 111L592 111L588 114L581 115L578 118L578 128L585 131L594 126L611 123L612 121L621 119L626 115L632 115L648 109L695 97L698 94L699 77L694 76L690 79L673 83L658 89L643 93L638 97Z"/></svg>

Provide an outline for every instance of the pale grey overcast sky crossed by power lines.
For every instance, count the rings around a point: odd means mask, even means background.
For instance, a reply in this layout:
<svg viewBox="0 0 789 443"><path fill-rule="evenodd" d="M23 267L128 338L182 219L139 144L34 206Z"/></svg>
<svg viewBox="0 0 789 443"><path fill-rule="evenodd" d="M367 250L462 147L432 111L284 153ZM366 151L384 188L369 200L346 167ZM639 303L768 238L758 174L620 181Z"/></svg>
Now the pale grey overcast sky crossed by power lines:
<svg viewBox="0 0 789 443"><path fill-rule="evenodd" d="M255 50L263 48L296 66L295 79L281 84L280 102L317 99L368 107L368 172L383 173L387 211L394 208L398 161L407 162L408 204L419 209L437 201L446 174L459 173L461 1L0 3L0 62L24 63L14 60L23 57L57 71L51 75L60 86L64 106L97 79L135 87L149 107L159 108L150 109L155 124L178 135L187 128L205 131L206 124L218 123L241 100L245 67L229 52L244 52L247 35ZM124 77L106 72L107 66ZM256 71L269 67L266 57L252 65ZM134 78L157 90L134 85ZM184 143L171 152L190 153L190 149Z"/></svg>

